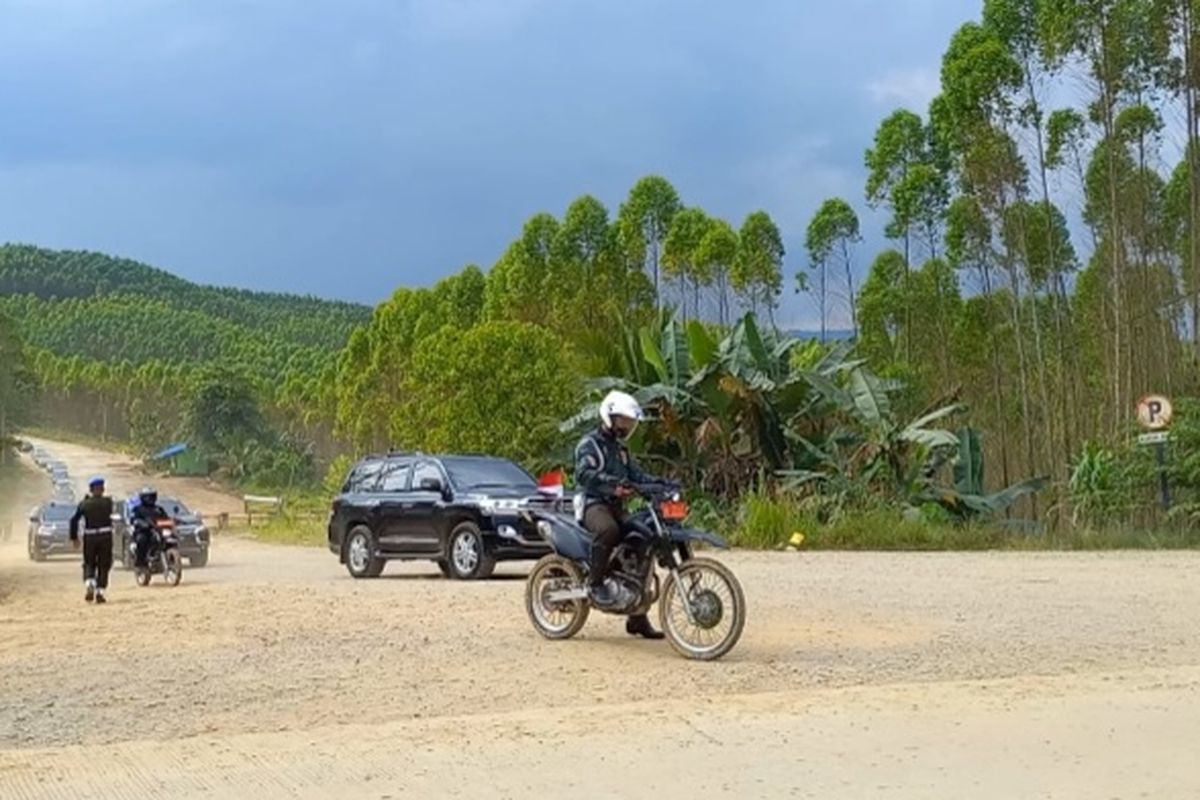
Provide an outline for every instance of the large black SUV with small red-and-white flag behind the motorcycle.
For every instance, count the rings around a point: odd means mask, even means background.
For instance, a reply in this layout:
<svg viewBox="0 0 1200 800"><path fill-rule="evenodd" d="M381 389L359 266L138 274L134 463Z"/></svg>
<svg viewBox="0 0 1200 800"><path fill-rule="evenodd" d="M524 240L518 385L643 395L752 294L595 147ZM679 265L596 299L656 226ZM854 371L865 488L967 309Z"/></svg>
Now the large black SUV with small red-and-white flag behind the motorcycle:
<svg viewBox="0 0 1200 800"><path fill-rule="evenodd" d="M355 578L378 577L390 559L428 559L448 577L486 578L497 561L550 552L521 512L558 503L505 458L371 456L334 500L329 549Z"/></svg>

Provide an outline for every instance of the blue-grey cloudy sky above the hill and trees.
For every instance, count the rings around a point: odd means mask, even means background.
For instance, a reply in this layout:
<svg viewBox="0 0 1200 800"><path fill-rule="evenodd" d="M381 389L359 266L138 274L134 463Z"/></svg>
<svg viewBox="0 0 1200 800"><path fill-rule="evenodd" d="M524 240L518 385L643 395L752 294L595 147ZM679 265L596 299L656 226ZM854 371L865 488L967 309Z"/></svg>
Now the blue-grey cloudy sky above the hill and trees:
<svg viewBox="0 0 1200 800"><path fill-rule="evenodd" d="M0 0L0 240L376 302L647 173L786 236L974 0ZM868 219L866 260L878 243Z"/></svg>

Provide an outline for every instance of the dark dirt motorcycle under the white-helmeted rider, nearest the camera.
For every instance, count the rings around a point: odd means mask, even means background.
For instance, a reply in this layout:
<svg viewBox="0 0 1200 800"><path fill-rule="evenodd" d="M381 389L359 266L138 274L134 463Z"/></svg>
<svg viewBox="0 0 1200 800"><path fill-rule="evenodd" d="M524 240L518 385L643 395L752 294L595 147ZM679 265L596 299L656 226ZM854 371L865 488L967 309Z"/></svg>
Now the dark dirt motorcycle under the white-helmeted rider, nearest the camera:
<svg viewBox="0 0 1200 800"><path fill-rule="evenodd" d="M742 584L720 561L697 557L695 542L727 548L716 534L686 528L688 504L673 483L631 487L646 507L625 522L625 535L610 559L617 602L599 607L608 614L644 614L659 602L660 627L685 658L720 658L738 643L745 626ZM529 510L538 530L554 549L538 561L526 583L526 612L547 639L578 633L593 604L587 575L592 534L572 516ZM658 567L666 571L660 581Z"/></svg>

